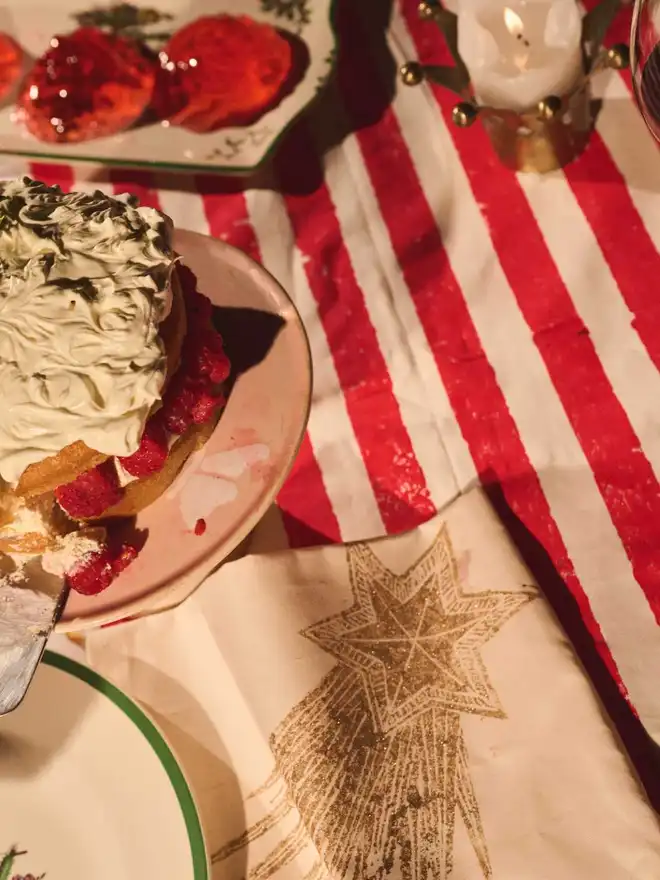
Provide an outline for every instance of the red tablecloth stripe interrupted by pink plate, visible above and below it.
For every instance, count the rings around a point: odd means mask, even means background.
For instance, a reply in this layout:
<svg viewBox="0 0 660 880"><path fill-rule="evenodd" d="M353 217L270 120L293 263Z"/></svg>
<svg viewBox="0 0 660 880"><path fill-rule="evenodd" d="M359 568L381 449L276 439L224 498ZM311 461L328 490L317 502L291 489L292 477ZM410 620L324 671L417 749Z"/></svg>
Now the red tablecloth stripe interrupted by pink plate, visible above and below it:
<svg viewBox="0 0 660 880"><path fill-rule="evenodd" d="M259 243L245 195L228 191L227 183L222 178L198 177L196 185L211 235L261 262ZM307 433L293 470L280 489L277 505L282 512L282 522L291 547L311 547L341 540L337 517Z"/></svg>

